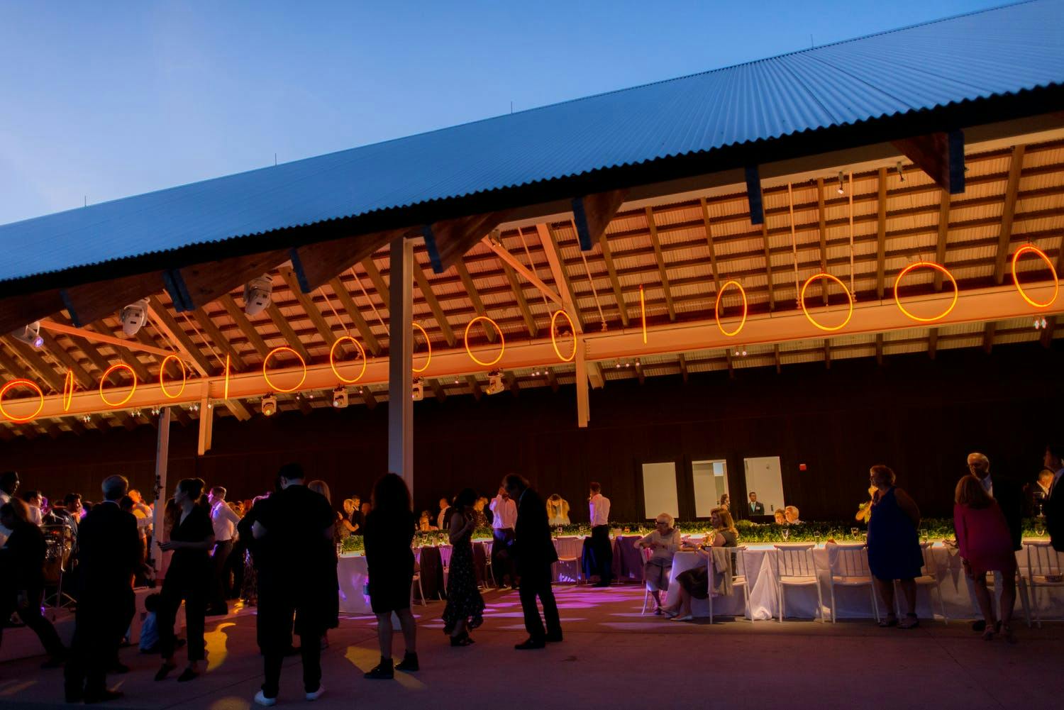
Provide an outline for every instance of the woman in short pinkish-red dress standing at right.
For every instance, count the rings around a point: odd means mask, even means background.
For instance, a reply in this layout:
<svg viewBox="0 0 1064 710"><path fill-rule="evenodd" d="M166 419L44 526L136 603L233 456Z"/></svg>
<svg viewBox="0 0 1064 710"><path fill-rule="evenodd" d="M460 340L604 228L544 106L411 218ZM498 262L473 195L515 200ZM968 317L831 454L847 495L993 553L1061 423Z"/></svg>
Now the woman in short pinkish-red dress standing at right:
<svg viewBox="0 0 1064 710"><path fill-rule="evenodd" d="M1010 643L1015 643L1009 623L1016 605L1016 555L1004 514L975 476L958 481L954 500L953 527L964 572L975 582L976 599L986 620L983 640L991 641L995 633L1000 633ZM987 572L1001 573L999 622L994 621L994 602L986 589Z"/></svg>

